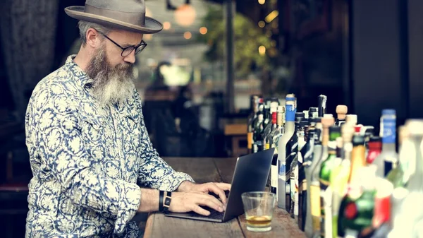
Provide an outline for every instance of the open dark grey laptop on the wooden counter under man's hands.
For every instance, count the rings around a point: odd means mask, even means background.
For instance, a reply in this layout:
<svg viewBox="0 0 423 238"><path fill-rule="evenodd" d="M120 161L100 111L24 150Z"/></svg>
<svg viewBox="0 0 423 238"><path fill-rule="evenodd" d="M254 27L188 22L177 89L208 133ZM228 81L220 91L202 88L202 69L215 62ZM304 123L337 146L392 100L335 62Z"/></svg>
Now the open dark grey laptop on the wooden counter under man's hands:
<svg viewBox="0 0 423 238"><path fill-rule="evenodd" d="M210 215L190 213L166 213L166 216L173 218L186 218L193 220L204 220L209 222L226 222L237 218L244 213L241 194L248 191L264 191L269 177L271 160L274 155L274 148L262 150L258 153L244 155L236 160L235 171L232 178L231 192L229 192L226 210L220 213L209 207L203 207L210 211Z"/></svg>

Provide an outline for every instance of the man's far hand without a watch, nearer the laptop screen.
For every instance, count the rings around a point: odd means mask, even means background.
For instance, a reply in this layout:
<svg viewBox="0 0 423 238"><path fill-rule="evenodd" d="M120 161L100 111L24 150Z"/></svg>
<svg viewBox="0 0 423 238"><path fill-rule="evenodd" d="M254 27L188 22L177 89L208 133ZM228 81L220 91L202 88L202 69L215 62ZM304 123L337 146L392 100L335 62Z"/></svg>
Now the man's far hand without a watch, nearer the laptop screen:
<svg viewBox="0 0 423 238"><path fill-rule="evenodd" d="M178 191L185 192L200 192L202 194L209 194L212 192L219 195L221 201L226 204L225 191L231 190L231 184L226 183L206 183L206 184L193 184L192 182L185 181L180 184Z"/></svg>

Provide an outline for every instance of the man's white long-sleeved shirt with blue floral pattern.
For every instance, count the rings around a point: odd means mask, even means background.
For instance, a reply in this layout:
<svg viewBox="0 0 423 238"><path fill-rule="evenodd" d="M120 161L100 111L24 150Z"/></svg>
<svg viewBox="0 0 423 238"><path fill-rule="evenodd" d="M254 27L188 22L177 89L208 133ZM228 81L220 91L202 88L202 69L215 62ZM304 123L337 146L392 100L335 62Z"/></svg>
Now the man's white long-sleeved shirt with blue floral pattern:
<svg viewBox="0 0 423 238"><path fill-rule="evenodd" d="M175 191L193 180L152 147L137 90L123 104L100 105L74 57L37 84L27 106L26 237L137 237L130 220L140 186Z"/></svg>

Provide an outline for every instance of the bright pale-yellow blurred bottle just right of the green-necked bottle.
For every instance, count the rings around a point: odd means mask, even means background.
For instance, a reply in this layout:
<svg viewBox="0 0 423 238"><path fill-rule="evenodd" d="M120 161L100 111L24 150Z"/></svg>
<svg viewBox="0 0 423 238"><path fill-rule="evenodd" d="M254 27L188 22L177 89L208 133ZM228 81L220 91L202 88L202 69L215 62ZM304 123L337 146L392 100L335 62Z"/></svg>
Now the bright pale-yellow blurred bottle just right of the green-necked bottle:
<svg viewBox="0 0 423 238"><path fill-rule="evenodd" d="M348 178L350 177L351 151L353 150L354 127L351 124L343 124L341 138L336 139L336 160L331 172L332 189L332 237L338 237L338 213L341 200L345 196Z"/></svg>

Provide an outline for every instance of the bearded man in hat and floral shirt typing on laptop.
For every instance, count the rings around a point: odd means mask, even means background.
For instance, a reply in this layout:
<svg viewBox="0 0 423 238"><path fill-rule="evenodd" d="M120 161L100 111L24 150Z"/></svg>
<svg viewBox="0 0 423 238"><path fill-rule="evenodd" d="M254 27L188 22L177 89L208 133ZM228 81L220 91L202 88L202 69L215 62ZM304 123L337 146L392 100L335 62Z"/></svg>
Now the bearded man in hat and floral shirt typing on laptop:
<svg viewBox="0 0 423 238"><path fill-rule="evenodd" d="M65 11L80 20L82 46L27 106L26 237L137 237L137 212L223 211L229 184L195 184L149 141L132 72L143 34L162 25L145 17L144 0L87 0Z"/></svg>

